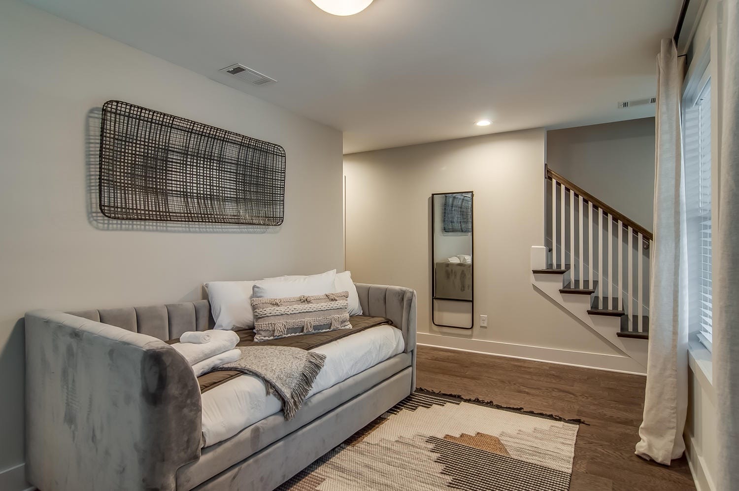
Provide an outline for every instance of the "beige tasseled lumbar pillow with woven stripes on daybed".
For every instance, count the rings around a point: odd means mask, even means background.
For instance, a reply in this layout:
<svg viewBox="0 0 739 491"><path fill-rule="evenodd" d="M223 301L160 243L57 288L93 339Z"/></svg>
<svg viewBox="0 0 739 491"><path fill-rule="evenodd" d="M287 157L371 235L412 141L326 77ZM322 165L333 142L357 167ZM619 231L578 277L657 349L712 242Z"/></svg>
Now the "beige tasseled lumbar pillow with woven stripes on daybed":
<svg viewBox="0 0 739 491"><path fill-rule="evenodd" d="M252 298L254 341L349 329L349 292Z"/></svg>

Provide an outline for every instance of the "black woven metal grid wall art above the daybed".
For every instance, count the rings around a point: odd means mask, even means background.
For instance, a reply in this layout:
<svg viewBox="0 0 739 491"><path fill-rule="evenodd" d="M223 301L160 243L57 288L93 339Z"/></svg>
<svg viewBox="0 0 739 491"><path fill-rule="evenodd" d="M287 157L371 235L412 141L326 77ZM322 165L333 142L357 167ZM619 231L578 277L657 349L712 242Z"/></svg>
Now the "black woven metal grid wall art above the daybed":
<svg viewBox="0 0 739 491"><path fill-rule="evenodd" d="M285 149L122 101L103 104L100 211L119 220L279 226Z"/></svg>

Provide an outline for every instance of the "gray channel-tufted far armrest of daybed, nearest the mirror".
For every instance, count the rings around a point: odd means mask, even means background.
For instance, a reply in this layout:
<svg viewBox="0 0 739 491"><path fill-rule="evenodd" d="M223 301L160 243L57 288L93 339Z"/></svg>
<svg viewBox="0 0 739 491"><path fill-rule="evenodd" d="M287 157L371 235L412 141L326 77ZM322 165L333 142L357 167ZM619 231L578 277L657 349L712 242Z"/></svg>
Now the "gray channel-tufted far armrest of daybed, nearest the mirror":
<svg viewBox="0 0 739 491"><path fill-rule="evenodd" d="M355 283L362 313L366 316L387 317L403 331L406 353L415 350L416 293L402 286L366 285Z"/></svg>

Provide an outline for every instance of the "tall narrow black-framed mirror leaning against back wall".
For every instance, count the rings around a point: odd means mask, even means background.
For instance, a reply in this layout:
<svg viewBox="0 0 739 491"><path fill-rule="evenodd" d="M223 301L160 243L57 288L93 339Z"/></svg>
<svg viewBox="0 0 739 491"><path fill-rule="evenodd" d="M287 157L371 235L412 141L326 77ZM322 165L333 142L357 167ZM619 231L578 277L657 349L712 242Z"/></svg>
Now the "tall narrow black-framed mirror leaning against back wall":
<svg viewBox="0 0 739 491"><path fill-rule="evenodd" d="M472 192L431 195L432 322L473 326Z"/></svg>

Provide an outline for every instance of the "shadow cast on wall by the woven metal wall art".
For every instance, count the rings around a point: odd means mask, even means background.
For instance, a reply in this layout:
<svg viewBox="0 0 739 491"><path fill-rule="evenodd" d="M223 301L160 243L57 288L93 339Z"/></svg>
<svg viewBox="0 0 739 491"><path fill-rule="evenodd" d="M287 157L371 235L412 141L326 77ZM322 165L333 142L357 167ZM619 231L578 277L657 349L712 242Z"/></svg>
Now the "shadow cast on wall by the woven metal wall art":
<svg viewBox="0 0 739 491"><path fill-rule="evenodd" d="M85 122L85 169L87 180L87 219L100 230L160 231L208 234L276 234L281 226L234 225L230 223L154 222L150 220L113 220L100 211L98 177L100 175L100 125L102 107L87 112Z"/></svg>

